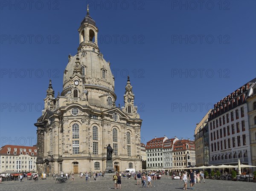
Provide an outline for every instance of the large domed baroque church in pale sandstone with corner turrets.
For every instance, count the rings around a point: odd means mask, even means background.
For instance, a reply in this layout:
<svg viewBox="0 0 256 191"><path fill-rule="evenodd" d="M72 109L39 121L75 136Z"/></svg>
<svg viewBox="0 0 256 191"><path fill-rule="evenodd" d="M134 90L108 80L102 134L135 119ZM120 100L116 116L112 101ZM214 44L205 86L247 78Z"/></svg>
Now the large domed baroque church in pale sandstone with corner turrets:
<svg viewBox="0 0 256 191"><path fill-rule="evenodd" d="M55 97L49 81L44 110L38 118L37 170L39 173L105 171L108 144L113 167L142 170L140 128L128 77L124 105L116 107L110 62L99 51L98 28L87 15L81 22L77 54L68 56L63 90Z"/></svg>

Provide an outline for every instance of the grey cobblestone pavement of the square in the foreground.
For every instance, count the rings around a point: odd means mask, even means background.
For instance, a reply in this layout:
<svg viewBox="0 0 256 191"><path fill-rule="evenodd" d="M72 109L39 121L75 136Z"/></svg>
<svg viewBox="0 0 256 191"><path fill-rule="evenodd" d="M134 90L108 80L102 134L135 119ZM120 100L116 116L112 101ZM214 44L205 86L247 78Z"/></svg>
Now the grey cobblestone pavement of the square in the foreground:
<svg viewBox="0 0 256 191"><path fill-rule="evenodd" d="M146 181L147 182L147 181ZM183 182L180 180L166 179L162 177L161 180L152 180L152 188L142 188L137 185L137 180L122 178L122 191L181 191L183 190ZM7 181L0 184L0 191L108 191L114 190L113 180L111 178L97 179L96 181L90 179L90 182L85 182L85 178L76 177L75 181L71 178L67 183L56 184L55 180L26 180ZM188 183L188 190L190 185ZM194 185L195 191L256 191L255 182L238 182L226 180L208 180L206 183ZM194 191L193 190L193 191Z"/></svg>

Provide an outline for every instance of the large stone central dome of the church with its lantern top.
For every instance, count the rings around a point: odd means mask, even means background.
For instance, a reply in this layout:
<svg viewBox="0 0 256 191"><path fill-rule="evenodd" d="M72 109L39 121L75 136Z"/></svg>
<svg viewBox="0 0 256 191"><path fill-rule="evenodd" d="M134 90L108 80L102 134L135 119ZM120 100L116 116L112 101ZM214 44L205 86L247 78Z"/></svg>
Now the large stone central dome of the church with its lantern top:
<svg viewBox="0 0 256 191"><path fill-rule="evenodd" d="M99 51L98 28L88 9L78 32L78 52L75 56L69 55L61 96L69 100L87 100L90 105L102 108L113 108L116 101L114 77L110 62L106 62Z"/></svg>

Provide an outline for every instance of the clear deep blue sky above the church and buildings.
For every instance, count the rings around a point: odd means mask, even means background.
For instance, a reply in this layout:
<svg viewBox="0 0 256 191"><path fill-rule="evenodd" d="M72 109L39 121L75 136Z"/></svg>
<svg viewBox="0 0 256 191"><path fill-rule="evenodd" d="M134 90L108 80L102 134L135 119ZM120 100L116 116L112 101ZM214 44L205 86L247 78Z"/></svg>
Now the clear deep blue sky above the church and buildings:
<svg viewBox="0 0 256 191"><path fill-rule="evenodd" d="M130 75L144 143L192 138L214 103L256 76L255 1L1 1L0 146L36 143L49 79L57 95L87 3L116 103Z"/></svg>

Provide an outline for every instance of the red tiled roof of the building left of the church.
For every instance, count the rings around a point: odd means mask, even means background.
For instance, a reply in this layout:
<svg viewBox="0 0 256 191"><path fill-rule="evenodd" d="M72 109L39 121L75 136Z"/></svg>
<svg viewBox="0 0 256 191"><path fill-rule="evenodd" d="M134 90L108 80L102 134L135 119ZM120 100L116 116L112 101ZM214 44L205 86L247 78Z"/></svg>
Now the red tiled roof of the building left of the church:
<svg viewBox="0 0 256 191"><path fill-rule="evenodd" d="M16 148L16 150L15 150ZM22 149L22 151L20 151L20 149ZM29 152L29 149L31 149L31 151ZM20 146L20 145L4 145L0 148L0 154L9 154L10 155L20 155L20 153L22 152L22 154L28 154L30 156L37 156L37 148L36 147L29 147L29 146ZM15 154L16 152L16 154ZM33 153L33 154L32 154Z"/></svg>

